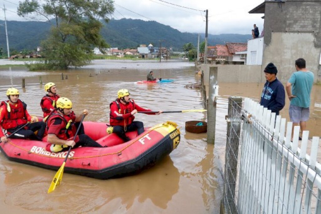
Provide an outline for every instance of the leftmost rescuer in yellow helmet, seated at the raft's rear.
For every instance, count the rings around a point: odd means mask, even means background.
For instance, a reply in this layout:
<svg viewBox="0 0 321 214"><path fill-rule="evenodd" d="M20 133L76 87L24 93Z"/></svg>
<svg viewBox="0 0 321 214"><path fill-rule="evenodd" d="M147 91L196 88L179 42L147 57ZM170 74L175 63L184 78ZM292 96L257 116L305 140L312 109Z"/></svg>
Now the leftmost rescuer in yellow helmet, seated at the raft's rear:
<svg viewBox="0 0 321 214"><path fill-rule="evenodd" d="M30 116L27 111L27 104L19 99L19 91L16 88L9 88L6 95L9 100L2 101L0 103L0 137L2 142L7 142L8 139L4 135L2 129L7 131L7 134L11 134L14 131L20 129L27 122L24 128L17 131L11 136L16 139L30 139L30 140L42 140L42 136L46 130L46 124L44 122L36 122L37 118ZM38 131L37 134L34 132Z"/></svg>

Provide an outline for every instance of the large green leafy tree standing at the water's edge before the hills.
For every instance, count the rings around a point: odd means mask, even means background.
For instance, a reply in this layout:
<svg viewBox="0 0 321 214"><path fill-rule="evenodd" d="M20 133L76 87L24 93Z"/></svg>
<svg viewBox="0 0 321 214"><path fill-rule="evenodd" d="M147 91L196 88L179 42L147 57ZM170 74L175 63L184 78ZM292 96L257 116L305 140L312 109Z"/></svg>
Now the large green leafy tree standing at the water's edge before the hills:
<svg viewBox="0 0 321 214"><path fill-rule="evenodd" d="M80 67L91 60L92 49L107 48L100 35L108 15L114 12L113 0L24 0L18 15L41 15L52 24L47 40L41 43L43 63L30 69L66 69ZM52 17L54 19L52 19Z"/></svg>

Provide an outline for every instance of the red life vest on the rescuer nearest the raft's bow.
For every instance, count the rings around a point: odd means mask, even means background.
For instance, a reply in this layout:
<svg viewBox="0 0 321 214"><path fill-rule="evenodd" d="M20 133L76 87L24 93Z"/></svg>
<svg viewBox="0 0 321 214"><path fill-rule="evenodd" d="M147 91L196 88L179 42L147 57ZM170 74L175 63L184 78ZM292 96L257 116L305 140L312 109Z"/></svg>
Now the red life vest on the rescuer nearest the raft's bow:
<svg viewBox="0 0 321 214"><path fill-rule="evenodd" d="M109 104L109 107L111 107L111 105L117 105L118 108L118 113L119 114L127 114L132 112L135 109L135 102L134 100L130 100L128 102L128 104L123 104L119 102L119 99L116 99L115 101L111 102ZM134 121L134 115L131 115L130 117L123 119L123 120L116 120L116 118L111 114L109 114L110 119L109 119L109 123L111 126L128 126L130 125L133 121Z"/></svg>

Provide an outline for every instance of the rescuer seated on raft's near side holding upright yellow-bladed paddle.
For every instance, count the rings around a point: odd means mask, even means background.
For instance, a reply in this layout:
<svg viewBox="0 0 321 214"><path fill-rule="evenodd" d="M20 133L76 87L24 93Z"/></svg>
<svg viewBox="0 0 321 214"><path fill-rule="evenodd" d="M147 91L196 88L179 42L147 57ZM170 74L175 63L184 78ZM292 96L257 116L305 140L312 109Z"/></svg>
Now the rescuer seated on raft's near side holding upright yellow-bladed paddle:
<svg viewBox="0 0 321 214"><path fill-rule="evenodd" d="M48 136L44 141L49 142L46 150L49 152L60 152L71 147L103 147L85 134L83 125L79 122L83 115L87 115L87 109L82 114L76 115L72 111L73 103L65 97L60 97L56 103L55 110L47 120ZM73 140L77 128L81 126L78 136Z"/></svg>

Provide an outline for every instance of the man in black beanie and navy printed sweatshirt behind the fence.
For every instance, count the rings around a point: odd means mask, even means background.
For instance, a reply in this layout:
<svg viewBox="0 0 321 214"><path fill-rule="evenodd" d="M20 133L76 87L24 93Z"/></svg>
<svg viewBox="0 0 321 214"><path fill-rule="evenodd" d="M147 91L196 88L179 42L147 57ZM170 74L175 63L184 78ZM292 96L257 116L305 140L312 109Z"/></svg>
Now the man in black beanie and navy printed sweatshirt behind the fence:
<svg viewBox="0 0 321 214"><path fill-rule="evenodd" d="M276 78L277 73L278 70L272 62L267 64L264 69L266 83L261 94L260 104L279 115L285 105L285 91L282 83Z"/></svg>

